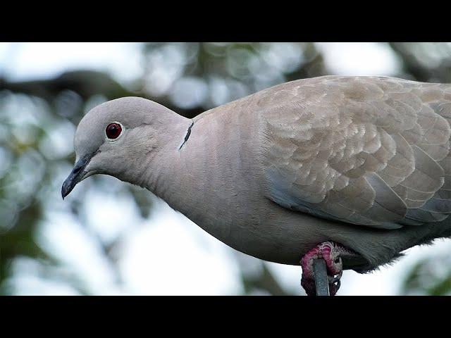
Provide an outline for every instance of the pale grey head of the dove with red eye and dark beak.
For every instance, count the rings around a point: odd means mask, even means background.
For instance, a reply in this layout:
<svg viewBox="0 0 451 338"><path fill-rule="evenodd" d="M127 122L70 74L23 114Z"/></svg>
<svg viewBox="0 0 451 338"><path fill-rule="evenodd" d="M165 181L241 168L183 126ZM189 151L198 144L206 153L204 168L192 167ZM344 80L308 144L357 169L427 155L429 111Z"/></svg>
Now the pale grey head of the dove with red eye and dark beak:
<svg viewBox="0 0 451 338"><path fill-rule="evenodd" d="M140 97L123 97L92 108L75 132L75 166L63 182L61 195L66 197L85 178L106 174L130 181L130 168L142 158L152 158L164 137L164 130L175 114L154 101Z"/></svg>

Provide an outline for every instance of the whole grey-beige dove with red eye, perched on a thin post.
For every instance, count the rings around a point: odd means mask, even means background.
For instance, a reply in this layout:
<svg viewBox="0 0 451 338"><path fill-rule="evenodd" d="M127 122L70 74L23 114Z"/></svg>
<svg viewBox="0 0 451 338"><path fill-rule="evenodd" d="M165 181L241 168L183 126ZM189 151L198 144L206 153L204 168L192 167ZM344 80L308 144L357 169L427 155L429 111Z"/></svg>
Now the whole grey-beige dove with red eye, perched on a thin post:
<svg viewBox="0 0 451 338"><path fill-rule="evenodd" d="M334 294L342 268L451 236L450 124L450 84L393 77L292 81L192 120L124 97L82 118L62 194L112 175L239 251L302 265L307 294L324 258Z"/></svg>

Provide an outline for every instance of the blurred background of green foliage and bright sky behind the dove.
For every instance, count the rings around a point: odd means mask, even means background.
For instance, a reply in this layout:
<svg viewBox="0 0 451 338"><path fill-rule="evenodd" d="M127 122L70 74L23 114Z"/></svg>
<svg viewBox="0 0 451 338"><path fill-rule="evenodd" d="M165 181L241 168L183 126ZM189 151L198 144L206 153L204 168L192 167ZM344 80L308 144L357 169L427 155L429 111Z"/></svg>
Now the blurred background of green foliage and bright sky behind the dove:
<svg viewBox="0 0 451 338"><path fill-rule="evenodd" d="M147 190L85 180L63 201L75 127L143 96L189 118L319 75L451 82L449 43L0 43L0 294L301 295L301 269L237 252ZM451 294L451 241L409 249L340 295Z"/></svg>

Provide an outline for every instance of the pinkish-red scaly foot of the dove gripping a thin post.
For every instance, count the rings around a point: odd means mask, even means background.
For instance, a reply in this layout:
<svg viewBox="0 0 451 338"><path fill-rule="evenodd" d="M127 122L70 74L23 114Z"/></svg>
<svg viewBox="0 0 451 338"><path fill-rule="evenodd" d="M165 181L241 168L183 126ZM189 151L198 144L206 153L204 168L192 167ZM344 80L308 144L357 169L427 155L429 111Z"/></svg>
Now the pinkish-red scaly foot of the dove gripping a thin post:
<svg viewBox="0 0 451 338"><path fill-rule="evenodd" d="M302 266L302 280L301 285L304 287L308 296L316 295L316 285L314 277L314 260L317 258L323 258L326 262L326 268L328 272L328 283L330 296L335 296L340 289L340 278L343 271L343 263L340 255L343 253L350 253L350 250L346 249L340 244L334 242L323 242L318 244L307 252L301 259Z"/></svg>

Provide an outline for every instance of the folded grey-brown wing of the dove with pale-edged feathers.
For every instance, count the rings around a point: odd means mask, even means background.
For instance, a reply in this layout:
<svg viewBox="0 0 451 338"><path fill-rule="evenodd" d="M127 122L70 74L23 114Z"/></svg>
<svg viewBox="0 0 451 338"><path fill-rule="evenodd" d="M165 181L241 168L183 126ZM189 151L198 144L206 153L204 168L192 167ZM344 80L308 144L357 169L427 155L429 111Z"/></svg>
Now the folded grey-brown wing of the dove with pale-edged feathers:
<svg viewBox="0 0 451 338"><path fill-rule="evenodd" d="M318 77L259 93L268 198L393 229L451 213L451 85Z"/></svg>

